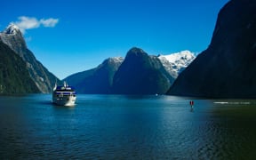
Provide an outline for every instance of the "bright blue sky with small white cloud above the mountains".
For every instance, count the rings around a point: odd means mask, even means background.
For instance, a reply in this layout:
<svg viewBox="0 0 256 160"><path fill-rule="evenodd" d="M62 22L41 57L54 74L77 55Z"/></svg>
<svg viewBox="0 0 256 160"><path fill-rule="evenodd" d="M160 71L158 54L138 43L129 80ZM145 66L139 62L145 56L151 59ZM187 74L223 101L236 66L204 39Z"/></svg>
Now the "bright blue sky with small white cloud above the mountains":
<svg viewBox="0 0 256 160"><path fill-rule="evenodd" d="M60 79L122 56L202 52L228 0L2 1L0 30L23 31L28 49Z"/></svg>

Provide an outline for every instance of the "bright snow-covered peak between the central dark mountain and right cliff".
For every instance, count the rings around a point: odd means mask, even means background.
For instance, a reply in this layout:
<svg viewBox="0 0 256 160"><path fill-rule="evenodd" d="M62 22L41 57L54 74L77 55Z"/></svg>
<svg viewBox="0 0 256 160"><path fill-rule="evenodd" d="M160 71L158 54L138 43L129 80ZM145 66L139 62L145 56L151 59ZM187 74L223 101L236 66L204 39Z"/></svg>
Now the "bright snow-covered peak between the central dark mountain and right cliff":
<svg viewBox="0 0 256 160"><path fill-rule="evenodd" d="M188 67L188 65L196 59L194 52L182 51L175 52L169 55L159 55L158 59L164 65L164 68L175 78Z"/></svg>

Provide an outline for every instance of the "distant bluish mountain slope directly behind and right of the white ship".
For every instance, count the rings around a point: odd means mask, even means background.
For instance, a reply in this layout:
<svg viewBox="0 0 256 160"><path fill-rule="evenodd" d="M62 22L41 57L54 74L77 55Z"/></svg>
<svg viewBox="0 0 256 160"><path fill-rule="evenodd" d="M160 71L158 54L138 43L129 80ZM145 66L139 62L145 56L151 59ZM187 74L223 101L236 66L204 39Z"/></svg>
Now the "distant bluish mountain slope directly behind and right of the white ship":
<svg viewBox="0 0 256 160"><path fill-rule="evenodd" d="M76 73L64 79L76 88L78 93L107 94L111 90L113 77L124 58L104 60L97 68Z"/></svg>

